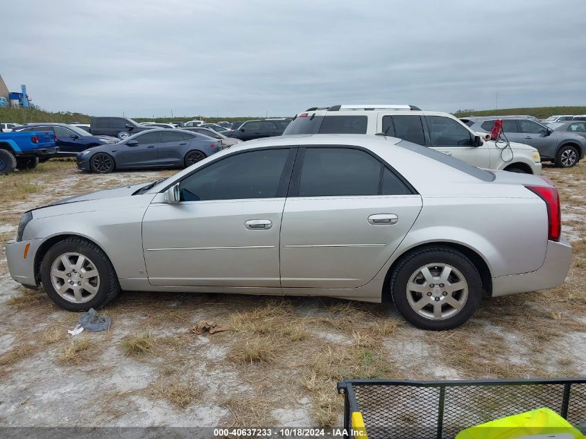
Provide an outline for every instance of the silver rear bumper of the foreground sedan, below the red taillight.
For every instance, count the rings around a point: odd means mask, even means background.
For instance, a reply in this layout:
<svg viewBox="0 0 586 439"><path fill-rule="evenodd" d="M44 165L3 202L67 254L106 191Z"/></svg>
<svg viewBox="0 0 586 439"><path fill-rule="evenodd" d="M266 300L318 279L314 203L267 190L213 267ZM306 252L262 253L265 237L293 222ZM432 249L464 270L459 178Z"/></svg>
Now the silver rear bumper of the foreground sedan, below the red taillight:
<svg viewBox="0 0 586 439"><path fill-rule="evenodd" d="M545 261L539 270L522 275L492 278L492 296L546 290L564 283L571 263L571 245L564 236L560 242L547 241Z"/></svg>

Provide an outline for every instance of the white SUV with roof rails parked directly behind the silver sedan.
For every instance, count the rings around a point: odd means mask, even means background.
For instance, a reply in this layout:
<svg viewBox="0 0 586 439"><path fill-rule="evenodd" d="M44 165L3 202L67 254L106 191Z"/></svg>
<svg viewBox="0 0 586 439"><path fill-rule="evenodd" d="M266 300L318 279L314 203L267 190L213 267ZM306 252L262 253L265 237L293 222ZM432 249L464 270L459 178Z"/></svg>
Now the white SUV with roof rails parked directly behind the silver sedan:
<svg viewBox="0 0 586 439"><path fill-rule="evenodd" d="M448 113L413 105L313 107L295 116L283 135L366 134L398 137L452 155L479 168L541 174L539 152L528 145L490 140Z"/></svg>

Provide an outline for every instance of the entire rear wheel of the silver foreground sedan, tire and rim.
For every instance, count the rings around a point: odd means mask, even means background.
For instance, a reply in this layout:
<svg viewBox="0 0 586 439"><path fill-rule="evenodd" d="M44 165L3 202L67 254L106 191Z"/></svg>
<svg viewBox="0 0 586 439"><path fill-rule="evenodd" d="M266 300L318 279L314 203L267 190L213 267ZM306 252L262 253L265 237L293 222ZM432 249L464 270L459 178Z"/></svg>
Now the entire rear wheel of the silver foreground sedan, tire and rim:
<svg viewBox="0 0 586 439"><path fill-rule="evenodd" d="M454 329L471 318L482 298L478 270L461 252L445 247L415 250L393 271L397 310L422 329Z"/></svg>

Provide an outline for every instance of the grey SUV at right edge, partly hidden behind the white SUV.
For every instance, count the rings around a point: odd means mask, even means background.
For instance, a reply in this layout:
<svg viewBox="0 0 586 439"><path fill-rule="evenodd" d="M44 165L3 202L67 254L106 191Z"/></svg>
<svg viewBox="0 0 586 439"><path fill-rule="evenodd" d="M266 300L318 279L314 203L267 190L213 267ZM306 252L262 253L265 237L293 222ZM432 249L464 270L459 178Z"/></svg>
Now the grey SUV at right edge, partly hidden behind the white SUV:
<svg viewBox="0 0 586 439"><path fill-rule="evenodd" d="M494 121L503 119L503 132L507 139L537 148L542 160L555 162L560 168L571 168L584 157L586 137L571 132L554 131L530 119L498 116L468 117L462 119L472 130L490 132Z"/></svg>

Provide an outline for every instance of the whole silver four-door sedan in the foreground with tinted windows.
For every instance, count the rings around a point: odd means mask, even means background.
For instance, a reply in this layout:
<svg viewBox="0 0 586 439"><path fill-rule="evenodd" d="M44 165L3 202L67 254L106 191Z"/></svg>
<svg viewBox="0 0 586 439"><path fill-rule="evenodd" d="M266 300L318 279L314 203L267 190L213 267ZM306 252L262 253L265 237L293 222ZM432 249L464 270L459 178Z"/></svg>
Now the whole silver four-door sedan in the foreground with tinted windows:
<svg viewBox="0 0 586 439"><path fill-rule="evenodd" d="M166 130L168 131L168 130ZM248 141L171 178L26 212L10 274L60 307L127 291L393 301L450 329L500 296L564 282L558 192L393 137Z"/></svg>

